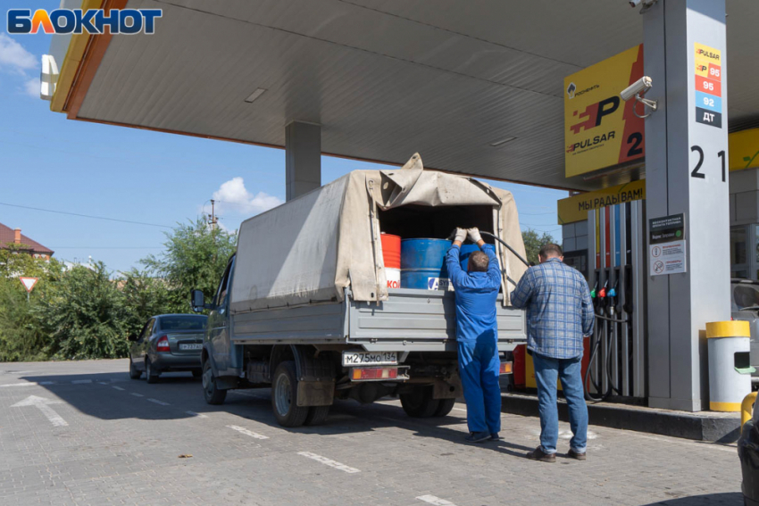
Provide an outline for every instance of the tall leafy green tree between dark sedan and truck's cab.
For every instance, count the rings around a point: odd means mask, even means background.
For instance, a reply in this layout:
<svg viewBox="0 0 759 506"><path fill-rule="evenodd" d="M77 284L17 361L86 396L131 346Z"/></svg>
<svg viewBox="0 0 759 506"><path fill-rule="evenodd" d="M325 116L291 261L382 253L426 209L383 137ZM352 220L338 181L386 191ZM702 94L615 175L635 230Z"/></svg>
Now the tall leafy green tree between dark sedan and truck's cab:
<svg viewBox="0 0 759 506"><path fill-rule="evenodd" d="M172 312L189 310L193 288L210 295L219 285L227 261L235 253L237 237L224 230L211 230L204 220L179 224L166 233L164 253L141 262L148 272L163 278L170 290Z"/></svg>

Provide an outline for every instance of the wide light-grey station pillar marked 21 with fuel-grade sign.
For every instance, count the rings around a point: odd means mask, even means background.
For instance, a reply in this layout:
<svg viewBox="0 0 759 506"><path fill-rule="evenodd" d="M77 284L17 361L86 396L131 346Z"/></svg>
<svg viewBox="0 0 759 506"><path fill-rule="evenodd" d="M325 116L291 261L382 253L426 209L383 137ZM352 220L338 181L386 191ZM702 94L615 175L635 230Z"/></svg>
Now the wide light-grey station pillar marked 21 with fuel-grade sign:
<svg viewBox="0 0 759 506"><path fill-rule="evenodd" d="M643 20L658 101L646 119L648 402L701 411L706 322L730 319L725 0L659 0Z"/></svg>

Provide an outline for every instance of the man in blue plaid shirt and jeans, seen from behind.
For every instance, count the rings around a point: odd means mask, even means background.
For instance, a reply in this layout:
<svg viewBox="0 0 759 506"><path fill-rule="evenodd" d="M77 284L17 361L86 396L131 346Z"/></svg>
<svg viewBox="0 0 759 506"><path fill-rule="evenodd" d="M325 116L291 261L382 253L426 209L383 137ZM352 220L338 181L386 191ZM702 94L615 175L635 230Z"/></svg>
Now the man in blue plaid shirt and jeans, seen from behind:
<svg viewBox="0 0 759 506"><path fill-rule="evenodd" d="M527 309L527 349L535 364L540 414L540 445L528 458L556 461L559 413L556 380L561 378L573 437L567 456L585 460L588 406L582 387L582 337L593 332L590 289L579 270L563 263L562 248L544 245L540 264L530 267L512 292L512 304Z"/></svg>

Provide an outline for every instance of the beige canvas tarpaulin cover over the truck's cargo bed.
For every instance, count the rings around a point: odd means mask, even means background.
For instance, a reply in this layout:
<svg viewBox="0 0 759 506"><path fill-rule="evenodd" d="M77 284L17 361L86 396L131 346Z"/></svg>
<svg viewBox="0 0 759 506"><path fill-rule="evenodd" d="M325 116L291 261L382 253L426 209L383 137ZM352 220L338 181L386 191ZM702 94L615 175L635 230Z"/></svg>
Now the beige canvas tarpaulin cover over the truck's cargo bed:
<svg viewBox="0 0 759 506"><path fill-rule="evenodd" d="M403 205L492 205L498 235L524 256L511 192L471 178L424 171L419 154L399 170L354 170L243 222L232 280L232 313L343 300L388 299L378 210ZM526 270L496 243L508 278ZM505 303L513 286L504 277Z"/></svg>

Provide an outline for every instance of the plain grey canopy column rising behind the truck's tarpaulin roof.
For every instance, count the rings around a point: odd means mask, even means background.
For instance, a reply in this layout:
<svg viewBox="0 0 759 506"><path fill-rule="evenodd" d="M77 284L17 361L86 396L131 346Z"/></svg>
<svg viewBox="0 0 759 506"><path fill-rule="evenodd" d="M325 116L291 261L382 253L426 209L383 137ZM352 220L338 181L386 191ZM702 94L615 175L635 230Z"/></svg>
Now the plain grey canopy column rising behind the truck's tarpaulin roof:
<svg viewBox="0 0 759 506"><path fill-rule="evenodd" d="M285 127L286 198L321 187L321 126L293 121Z"/></svg>

